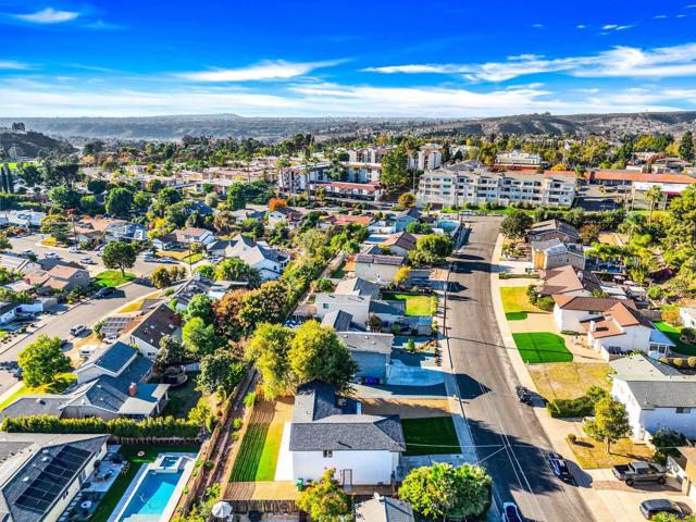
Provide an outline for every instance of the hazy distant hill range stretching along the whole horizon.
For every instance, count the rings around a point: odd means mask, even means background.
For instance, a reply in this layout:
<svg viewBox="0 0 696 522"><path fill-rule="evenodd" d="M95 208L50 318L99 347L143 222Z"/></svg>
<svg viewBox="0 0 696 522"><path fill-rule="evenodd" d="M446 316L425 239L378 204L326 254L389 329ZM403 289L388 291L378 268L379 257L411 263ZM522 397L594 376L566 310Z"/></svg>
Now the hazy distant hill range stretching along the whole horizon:
<svg viewBox="0 0 696 522"><path fill-rule="evenodd" d="M371 137L380 133L411 132L422 135L508 134L555 135L602 133L622 136L638 133L681 135L694 129L696 111L634 114L521 114L484 119L389 117L244 117L208 114L150 117L28 117L0 119L0 126L22 121L27 128L73 141L100 139L178 139L185 135L257 138L275 141L297 133L318 139Z"/></svg>

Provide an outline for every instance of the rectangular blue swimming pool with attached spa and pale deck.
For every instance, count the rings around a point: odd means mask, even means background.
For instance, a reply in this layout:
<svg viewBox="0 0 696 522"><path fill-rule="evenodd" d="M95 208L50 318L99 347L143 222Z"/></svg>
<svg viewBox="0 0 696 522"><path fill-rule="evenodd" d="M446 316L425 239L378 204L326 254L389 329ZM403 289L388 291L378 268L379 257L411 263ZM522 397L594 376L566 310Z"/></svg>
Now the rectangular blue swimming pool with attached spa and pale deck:
<svg viewBox="0 0 696 522"><path fill-rule="evenodd" d="M196 453L160 453L140 467L109 522L169 520L194 471Z"/></svg>

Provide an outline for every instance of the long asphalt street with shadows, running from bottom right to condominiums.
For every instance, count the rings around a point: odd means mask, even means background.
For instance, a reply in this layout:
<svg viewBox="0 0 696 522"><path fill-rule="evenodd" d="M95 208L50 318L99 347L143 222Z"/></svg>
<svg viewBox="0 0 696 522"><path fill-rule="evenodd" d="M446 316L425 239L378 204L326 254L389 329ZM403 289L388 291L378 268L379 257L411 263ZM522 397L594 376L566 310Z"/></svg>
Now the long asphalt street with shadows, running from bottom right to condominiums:
<svg viewBox="0 0 696 522"><path fill-rule="evenodd" d="M453 256L447 327L460 400L480 462L494 481L494 509L515 501L531 521L589 522L575 486L556 478L544 456L551 449L518 384L496 323L490 260L500 219L473 217L469 243Z"/></svg>

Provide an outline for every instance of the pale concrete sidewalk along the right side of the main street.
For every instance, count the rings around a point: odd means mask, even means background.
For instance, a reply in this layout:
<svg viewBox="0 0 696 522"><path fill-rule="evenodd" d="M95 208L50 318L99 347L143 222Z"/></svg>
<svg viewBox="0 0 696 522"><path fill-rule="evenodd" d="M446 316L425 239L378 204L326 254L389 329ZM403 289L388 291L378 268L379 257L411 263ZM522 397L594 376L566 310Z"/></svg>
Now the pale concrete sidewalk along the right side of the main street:
<svg viewBox="0 0 696 522"><path fill-rule="evenodd" d="M493 296L493 309L496 315L496 321L498 323L498 328L500 330L500 336L502 337L502 344L508 351L508 357L510 358L510 362L512 363L512 368L514 369L514 373L517 374L520 384L533 391L536 391L534 380L527 371L524 361L522 361L522 357L520 356L514 340L512 339L512 333L510 332L510 326L505 316L505 310L502 309L502 299L500 298L500 282L498 272L495 271L495 268L498 266L500 261L501 250L502 236L498 235L492 259L492 265L494 266L494 272L492 272L490 274L490 294ZM577 434L579 426L576 425L576 423L552 419L544 407L535 406L534 413L536 414L539 424L542 424L544 432L546 432L546 436L549 438L554 450L558 453L561 453L563 457L570 459L571 461L574 461L573 452L569 448L568 443L566 442L566 437L571 432ZM575 475L579 482L579 492L585 500L585 504L587 505L589 510L595 515L595 519L598 522L613 522L618 520L610 513L598 493L592 487L592 475L583 472L575 473Z"/></svg>

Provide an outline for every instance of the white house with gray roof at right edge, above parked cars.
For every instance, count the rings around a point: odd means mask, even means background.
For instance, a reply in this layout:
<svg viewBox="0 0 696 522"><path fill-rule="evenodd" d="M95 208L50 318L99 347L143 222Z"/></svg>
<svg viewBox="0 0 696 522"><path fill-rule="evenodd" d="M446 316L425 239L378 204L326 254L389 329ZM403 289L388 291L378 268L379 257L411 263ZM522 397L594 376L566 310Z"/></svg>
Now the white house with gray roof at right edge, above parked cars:
<svg viewBox="0 0 696 522"><path fill-rule="evenodd" d="M642 355L610 364L611 396L625 406L634 439L649 439L660 428L696 437L696 375Z"/></svg>

